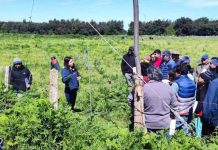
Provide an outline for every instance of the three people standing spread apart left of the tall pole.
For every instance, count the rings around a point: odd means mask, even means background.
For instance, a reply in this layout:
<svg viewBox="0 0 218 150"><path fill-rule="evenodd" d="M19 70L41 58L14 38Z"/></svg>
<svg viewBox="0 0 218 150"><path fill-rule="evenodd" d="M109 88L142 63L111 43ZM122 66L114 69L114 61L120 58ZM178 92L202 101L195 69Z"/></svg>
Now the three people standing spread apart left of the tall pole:
<svg viewBox="0 0 218 150"><path fill-rule="evenodd" d="M60 65L54 56L51 57L51 69L60 70ZM62 81L65 84L66 99L73 111L79 111L79 109L75 108L75 103L81 77L72 57L64 58L64 67L61 75ZM14 58L13 65L9 67L9 84L12 85L12 89L16 91L18 97L21 97L23 92L30 89L32 74L30 70L23 65L20 58Z"/></svg>

